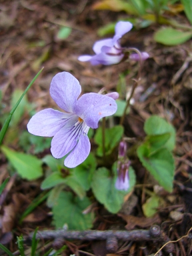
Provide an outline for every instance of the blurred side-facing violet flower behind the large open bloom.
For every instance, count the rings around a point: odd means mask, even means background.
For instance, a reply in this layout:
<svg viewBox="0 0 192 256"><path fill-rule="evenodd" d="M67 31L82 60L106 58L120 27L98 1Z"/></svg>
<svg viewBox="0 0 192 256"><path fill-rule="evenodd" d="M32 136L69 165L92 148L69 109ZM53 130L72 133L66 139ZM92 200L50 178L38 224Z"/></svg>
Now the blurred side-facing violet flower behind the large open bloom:
<svg viewBox="0 0 192 256"><path fill-rule="evenodd" d="M132 29L133 25L129 21L119 21L115 25L115 35L113 38L96 41L93 45L95 55L81 55L79 61L90 61L91 65L113 65L119 63L125 57L125 48L121 47L120 40L125 33ZM127 49L129 50L129 48ZM131 50L131 49L130 49ZM141 53L141 59L149 57L148 53ZM131 53L129 58L139 61L140 56L137 53Z"/></svg>

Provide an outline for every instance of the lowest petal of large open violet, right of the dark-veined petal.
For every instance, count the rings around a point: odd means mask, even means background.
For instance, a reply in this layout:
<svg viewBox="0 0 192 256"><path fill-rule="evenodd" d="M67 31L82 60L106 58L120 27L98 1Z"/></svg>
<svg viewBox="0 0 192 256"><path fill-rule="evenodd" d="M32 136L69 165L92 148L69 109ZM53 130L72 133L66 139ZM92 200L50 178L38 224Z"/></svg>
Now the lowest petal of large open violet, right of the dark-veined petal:
<svg viewBox="0 0 192 256"><path fill-rule="evenodd" d="M77 145L66 157L64 165L69 168L74 168L77 165L80 165L80 163L83 163L83 161L88 157L90 149L91 144L89 142L89 138L84 133L81 133L81 137L79 137Z"/></svg>

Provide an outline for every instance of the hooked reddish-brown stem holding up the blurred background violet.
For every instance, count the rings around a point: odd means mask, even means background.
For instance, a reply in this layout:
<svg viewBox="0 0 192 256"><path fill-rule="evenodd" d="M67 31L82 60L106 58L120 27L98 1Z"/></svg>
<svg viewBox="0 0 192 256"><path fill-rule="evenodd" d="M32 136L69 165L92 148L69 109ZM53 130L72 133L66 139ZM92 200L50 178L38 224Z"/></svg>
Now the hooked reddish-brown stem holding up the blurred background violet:
<svg viewBox="0 0 192 256"><path fill-rule="evenodd" d="M139 70L138 70L138 73L137 73L137 79L134 79L134 83L133 83L133 87L131 89L131 94L129 96L129 99L127 99L127 105L125 106L125 109L124 109L124 112L123 112L123 115L121 117L121 120L120 120L120 125L123 125L123 122L124 122L124 119L125 119L125 115L126 115L126 112L127 112L127 109L130 105L130 101L131 101L131 98L133 97L133 94L134 94L134 91L135 91L135 88L137 87L138 83L139 83L139 80L141 78L141 68L142 68L142 57L141 57L141 53L139 50L137 50L136 48L128 48L127 50L125 49L125 52L128 51L135 51L138 55L139 55Z"/></svg>

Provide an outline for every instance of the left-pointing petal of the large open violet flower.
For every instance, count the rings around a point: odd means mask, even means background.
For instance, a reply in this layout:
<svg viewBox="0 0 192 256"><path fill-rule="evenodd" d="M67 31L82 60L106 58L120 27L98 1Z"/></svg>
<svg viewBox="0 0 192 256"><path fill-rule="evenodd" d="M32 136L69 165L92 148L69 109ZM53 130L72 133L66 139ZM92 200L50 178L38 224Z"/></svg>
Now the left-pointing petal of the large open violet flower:
<svg viewBox="0 0 192 256"><path fill-rule="evenodd" d="M65 125L71 115L73 114L44 109L33 115L27 124L27 129L34 135L52 137Z"/></svg>

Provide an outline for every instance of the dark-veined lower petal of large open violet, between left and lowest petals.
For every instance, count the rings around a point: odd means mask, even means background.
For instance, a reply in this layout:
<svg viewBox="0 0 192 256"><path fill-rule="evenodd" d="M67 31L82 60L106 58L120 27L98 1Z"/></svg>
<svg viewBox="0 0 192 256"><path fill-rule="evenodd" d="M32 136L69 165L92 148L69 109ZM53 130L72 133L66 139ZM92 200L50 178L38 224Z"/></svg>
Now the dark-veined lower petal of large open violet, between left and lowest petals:
<svg viewBox="0 0 192 256"><path fill-rule="evenodd" d="M55 134L51 141L51 153L53 157L61 158L75 147L82 133L82 123L75 126L77 121L78 117L74 115L65 127Z"/></svg>

